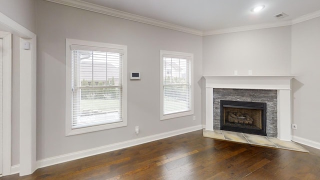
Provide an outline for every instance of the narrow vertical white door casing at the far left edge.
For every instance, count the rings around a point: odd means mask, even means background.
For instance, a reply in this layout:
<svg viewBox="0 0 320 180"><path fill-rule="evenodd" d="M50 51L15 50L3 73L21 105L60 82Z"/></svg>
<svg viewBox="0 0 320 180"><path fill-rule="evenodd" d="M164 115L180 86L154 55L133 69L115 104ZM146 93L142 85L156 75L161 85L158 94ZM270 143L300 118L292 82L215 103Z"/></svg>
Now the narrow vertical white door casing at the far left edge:
<svg viewBox="0 0 320 180"><path fill-rule="evenodd" d="M2 174L11 171L11 84L12 84L12 35L0 31L3 39L2 59Z"/></svg>

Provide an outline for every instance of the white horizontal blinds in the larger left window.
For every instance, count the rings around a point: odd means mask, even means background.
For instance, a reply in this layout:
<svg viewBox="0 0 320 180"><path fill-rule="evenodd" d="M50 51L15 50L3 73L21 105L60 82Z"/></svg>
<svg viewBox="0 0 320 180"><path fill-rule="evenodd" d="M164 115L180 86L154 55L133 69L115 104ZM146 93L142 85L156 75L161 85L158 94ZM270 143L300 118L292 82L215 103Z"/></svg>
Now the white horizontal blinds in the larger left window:
<svg viewBox="0 0 320 180"><path fill-rule="evenodd" d="M82 45L71 50L71 128L121 122L123 52Z"/></svg>

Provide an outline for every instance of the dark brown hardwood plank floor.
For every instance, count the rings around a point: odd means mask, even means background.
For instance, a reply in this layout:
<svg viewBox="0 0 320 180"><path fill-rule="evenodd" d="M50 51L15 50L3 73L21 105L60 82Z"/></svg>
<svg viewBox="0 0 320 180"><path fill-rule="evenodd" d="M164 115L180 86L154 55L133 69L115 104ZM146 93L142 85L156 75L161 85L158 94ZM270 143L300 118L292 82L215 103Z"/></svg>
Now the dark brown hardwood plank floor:
<svg viewBox="0 0 320 180"><path fill-rule="evenodd" d="M37 169L6 179L320 179L310 153L202 137L202 130Z"/></svg>

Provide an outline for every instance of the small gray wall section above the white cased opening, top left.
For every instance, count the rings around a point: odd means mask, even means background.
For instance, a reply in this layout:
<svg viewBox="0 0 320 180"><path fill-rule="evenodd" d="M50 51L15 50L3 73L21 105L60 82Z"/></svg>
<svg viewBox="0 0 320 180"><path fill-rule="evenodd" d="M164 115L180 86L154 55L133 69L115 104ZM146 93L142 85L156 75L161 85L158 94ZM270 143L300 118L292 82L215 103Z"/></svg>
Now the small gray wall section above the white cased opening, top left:
<svg viewBox="0 0 320 180"><path fill-rule="evenodd" d="M35 0L0 0L0 12L35 32Z"/></svg>

